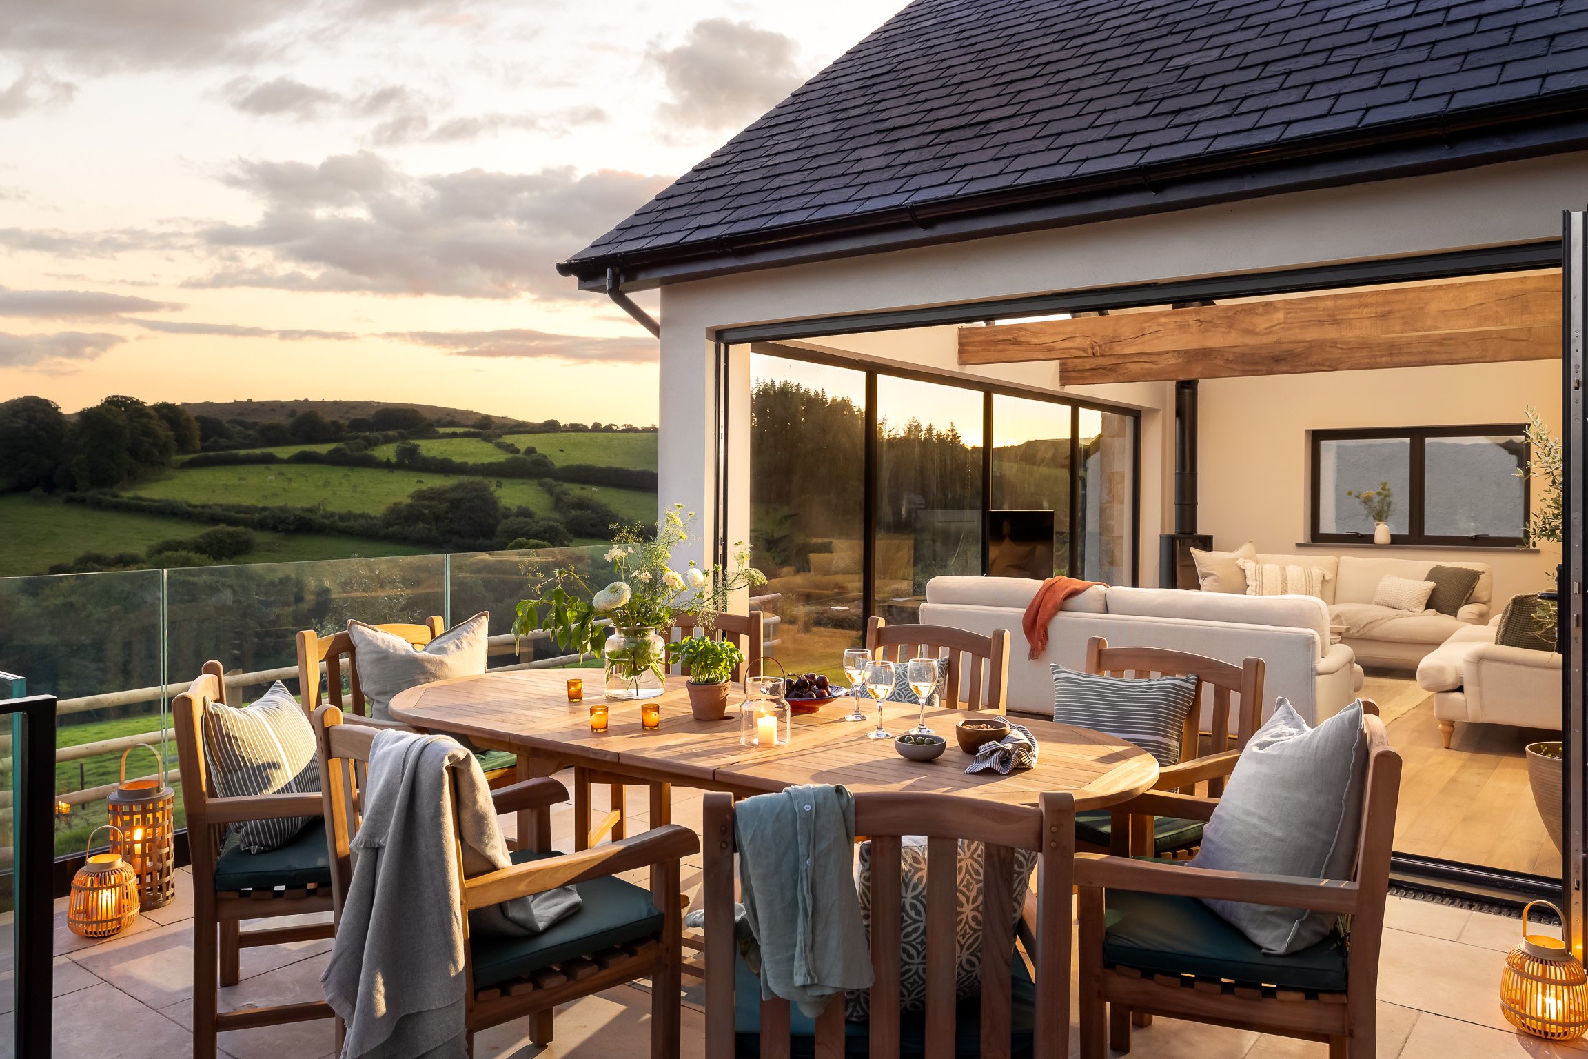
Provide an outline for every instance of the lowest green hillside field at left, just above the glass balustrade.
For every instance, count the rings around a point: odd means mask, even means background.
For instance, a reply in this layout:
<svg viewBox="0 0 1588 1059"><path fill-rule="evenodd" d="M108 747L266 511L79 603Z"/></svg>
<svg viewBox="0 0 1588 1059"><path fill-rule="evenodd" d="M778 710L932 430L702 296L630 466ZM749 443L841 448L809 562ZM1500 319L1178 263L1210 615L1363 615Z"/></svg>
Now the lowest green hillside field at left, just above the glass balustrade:
<svg viewBox="0 0 1588 1059"><path fill-rule="evenodd" d="M186 472L184 472L186 473ZM102 511L81 503L40 500L27 495L0 497L0 578L44 573L57 562L78 556L146 551L162 540L197 537L210 522L173 519L133 511ZM367 540L335 533L256 532L259 546L245 562L306 562L353 556L418 556L432 548L391 540Z"/></svg>

